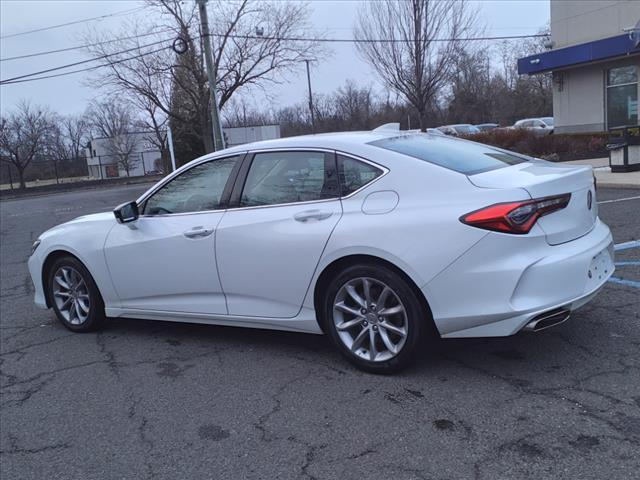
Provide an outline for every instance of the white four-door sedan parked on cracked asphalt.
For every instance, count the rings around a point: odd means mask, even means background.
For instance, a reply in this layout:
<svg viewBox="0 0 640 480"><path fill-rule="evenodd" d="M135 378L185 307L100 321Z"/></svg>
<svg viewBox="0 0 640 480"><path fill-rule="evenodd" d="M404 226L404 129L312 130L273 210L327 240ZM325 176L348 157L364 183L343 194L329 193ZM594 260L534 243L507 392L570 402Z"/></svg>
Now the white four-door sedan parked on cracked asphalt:
<svg viewBox="0 0 640 480"><path fill-rule="evenodd" d="M40 235L35 302L107 317L329 335L407 365L429 335L567 319L613 272L591 167L390 130L284 138L194 160L114 212Z"/></svg>

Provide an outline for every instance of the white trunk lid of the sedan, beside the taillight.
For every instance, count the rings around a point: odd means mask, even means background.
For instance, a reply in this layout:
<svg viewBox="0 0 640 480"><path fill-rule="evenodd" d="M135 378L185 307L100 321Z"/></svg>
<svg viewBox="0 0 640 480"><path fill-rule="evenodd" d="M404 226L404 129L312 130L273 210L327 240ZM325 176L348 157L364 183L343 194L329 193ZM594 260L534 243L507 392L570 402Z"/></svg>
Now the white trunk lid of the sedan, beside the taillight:
<svg viewBox="0 0 640 480"><path fill-rule="evenodd" d="M468 178L482 188L523 188L536 199L571 193L565 208L538 220L550 245L587 234L598 217L593 169L589 165L564 166L532 160Z"/></svg>

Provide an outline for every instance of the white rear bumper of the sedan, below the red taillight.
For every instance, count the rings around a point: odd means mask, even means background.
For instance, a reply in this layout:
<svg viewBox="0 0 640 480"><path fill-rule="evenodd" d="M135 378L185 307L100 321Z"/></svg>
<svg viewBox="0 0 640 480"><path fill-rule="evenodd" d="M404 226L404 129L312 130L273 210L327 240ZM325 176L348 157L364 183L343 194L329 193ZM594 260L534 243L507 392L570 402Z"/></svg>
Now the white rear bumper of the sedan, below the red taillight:
<svg viewBox="0 0 640 480"><path fill-rule="evenodd" d="M555 246L544 236L489 234L422 290L441 336L506 336L545 312L584 305L613 271L611 232L598 219Z"/></svg>

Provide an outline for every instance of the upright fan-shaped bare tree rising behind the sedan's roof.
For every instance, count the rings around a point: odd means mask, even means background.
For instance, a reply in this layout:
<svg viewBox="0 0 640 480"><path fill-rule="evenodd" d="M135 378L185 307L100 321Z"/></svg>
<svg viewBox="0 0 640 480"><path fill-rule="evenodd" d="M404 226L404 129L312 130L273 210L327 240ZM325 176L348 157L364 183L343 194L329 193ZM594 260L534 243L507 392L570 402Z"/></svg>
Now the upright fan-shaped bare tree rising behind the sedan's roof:
<svg viewBox="0 0 640 480"><path fill-rule="evenodd" d="M358 52L416 109L423 131L429 104L449 80L462 39L475 33L476 18L466 0L381 0L359 11Z"/></svg>

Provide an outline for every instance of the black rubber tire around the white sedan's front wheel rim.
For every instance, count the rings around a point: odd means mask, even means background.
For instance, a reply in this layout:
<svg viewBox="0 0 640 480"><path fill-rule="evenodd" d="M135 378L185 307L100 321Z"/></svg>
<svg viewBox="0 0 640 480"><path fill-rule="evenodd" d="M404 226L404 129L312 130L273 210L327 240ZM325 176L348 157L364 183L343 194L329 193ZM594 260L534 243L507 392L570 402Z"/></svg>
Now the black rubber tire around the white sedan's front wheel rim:
<svg viewBox="0 0 640 480"><path fill-rule="evenodd" d="M86 316L86 318L85 317L81 318L79 314L71 311L71 310L75 310L74 308L71 308L71 306L65 307L64 304L60 305L60 302L64 300L58 300L60 296L54 295L56 288L60 289L60 286L56 282L56 274L61 272L61 269L63 268L66 269L66 272L68 274L72 274L74 278L77 278L76 274L79 275L82 281L84 282L84 286L86 286L86 288L79 287L75 292L79 297L83 297L82 298L83 307L87 306L86 303L84 303L84 301L85 301L85 297L88 296L87 311L85 312L85 310L82 309L80 314L80 315ZM48 295L51 301L51 306L53 307L53 311L56 313L56 317L58 317L58 320L60 321L60 323L62 323L62 325L64 325L69 330L73 332L79 332L79 333L92 332L99 329L106 320L105 313L104 313L104 302L102 300L102 295L100 295L100 291L98 290L98 287L96 286L96 283L93 280L93 277L91 276L89 271L86 269L86 267L82 264L82 262L80 262L77 258L72 256L60 257L57 260L55 260L55 262L53 262L53 265L49 269L48 273L49 273L47 278ZM62 290L66 291L67 289L63 288ZM62 297L62 298L65 298L65 297ZM73 302L76 302L76 301L79 301L79 299L74 298ZM75 303L73 303L72 305L75 306ZM63 310L67 310L67 309L70 310L71 313L65 313L61 311L61 307L63 307ZM80 306L78 308L80 308ZM68 318L69 316L71 316L71 319Z"/></svg>

